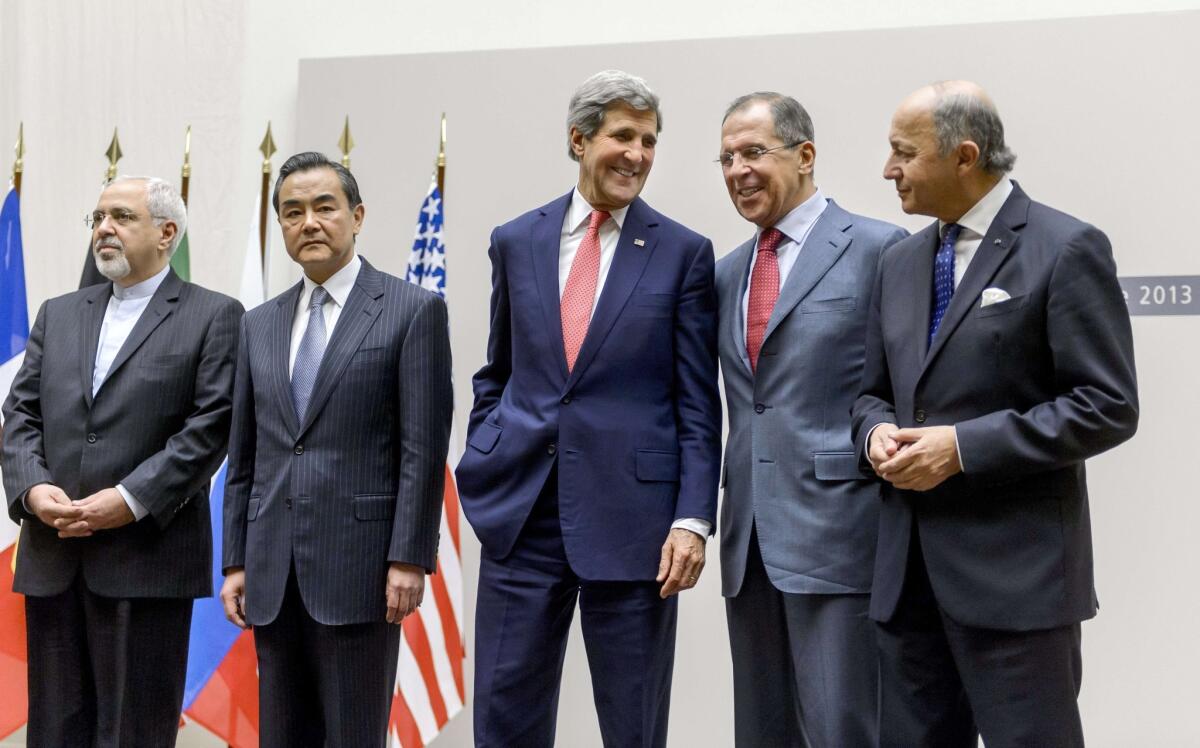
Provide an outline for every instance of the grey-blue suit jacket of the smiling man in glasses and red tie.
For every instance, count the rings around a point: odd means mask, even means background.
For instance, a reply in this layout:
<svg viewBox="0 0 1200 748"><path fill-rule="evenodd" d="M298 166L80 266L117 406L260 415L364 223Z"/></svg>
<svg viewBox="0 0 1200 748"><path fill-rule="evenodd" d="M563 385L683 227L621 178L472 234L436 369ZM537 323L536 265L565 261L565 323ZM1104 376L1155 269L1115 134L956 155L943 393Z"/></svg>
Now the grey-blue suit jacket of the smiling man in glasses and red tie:
<svg viewBox="0 0 1200 748"><path fill-rule="evenodd" d="M780 288L756 375L742 310L754 239L718 263L718 343L730 409L722 594L742 588L756 519L763 566L779 590L870 591L880 489L859 471L850 406L863 372L880 252L906 235L829 201Z"/></svg>

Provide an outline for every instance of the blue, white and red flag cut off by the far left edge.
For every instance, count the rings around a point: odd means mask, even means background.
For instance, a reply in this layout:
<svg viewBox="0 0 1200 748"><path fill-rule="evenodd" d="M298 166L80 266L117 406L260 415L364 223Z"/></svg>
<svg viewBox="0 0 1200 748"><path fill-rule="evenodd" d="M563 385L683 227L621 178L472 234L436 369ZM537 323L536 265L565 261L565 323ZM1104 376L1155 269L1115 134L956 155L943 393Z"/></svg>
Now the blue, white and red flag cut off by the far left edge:
<svg viewBox="0 0 1200 748"><path fill-rule="evenodd" d="M0 400L25 359L29 307L25 304L25 261L20 246L20 196L12 187L0 208ZM0 425L0 439L4 438ZM0 502L5 509L4 486ZM0 738L25 724L26 692L25 600L12 591L19 528L0 519Z"/></svg>

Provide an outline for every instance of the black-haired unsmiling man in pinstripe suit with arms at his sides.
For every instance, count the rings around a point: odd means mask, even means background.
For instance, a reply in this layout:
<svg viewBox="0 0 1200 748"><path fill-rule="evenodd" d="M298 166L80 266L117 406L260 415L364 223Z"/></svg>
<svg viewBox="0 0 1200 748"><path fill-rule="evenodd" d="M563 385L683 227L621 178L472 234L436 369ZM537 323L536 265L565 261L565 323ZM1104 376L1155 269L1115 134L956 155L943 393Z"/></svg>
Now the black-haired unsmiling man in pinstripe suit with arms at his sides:
<svg viewBox="0 0 1200 748"><path fill-rule="evenodd" d="M355 253L358 182L275 182L305 277L242 323L226 615L254 627L263 746L384 746L400 626L437 566L452 393L445 303Z"/></svg>

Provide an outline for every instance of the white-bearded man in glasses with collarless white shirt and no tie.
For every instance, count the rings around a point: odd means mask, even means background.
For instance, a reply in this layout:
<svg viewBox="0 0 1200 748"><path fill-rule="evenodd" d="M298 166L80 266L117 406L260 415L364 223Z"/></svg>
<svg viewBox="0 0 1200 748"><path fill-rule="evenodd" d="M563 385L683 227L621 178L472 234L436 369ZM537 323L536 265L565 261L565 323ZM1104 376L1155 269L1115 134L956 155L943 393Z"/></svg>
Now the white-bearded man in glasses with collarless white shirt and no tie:
<svg viewBox="0 0 1200 748"><path fill-rule="evenodd" d="M4 407L26 740L173 746L242 310L170 269L187 217L166 181L116 179L88 223L112 282L42 305Z"/></svg>

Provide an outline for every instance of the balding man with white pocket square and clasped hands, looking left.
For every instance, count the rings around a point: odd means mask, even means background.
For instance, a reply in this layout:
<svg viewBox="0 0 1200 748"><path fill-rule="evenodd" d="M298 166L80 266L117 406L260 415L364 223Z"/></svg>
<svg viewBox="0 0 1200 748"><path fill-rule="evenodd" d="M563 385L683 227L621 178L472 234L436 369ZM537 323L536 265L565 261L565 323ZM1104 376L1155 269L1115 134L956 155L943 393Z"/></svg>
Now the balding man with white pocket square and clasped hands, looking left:
<svg viewBox="0 0 1200 748"><path fill-rule="evenodd" d="M966 82L892 119L906 213L880 264L858 454L883 478L871 617L884 746L1081 746L1080 622L1096 615L1084 461L1138 425L1108 238L1031 201Z"/></svg>

